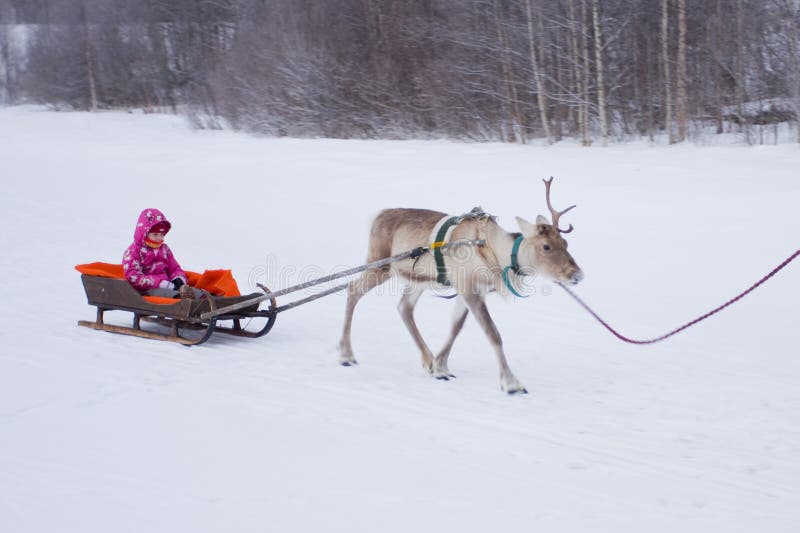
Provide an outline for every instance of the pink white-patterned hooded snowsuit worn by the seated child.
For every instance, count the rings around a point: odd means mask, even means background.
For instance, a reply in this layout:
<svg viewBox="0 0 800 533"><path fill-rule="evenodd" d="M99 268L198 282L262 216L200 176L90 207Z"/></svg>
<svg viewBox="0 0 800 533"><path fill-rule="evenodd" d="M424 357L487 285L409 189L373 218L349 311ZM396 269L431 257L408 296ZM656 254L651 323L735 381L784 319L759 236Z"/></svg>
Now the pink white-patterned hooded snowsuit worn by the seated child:
<svg viewBox="0 0 800 533"><path fill-rule="evenodd" d="M125 279L139 292L159 288L172 289L171 280L175 278L181 278L186 283L186 272L175 260L166 243L158 248L151 248L144 242L153 226L160 222L172 226L158 209L142 211L133 233L133 244L128 246L122 256Z"/></svg>

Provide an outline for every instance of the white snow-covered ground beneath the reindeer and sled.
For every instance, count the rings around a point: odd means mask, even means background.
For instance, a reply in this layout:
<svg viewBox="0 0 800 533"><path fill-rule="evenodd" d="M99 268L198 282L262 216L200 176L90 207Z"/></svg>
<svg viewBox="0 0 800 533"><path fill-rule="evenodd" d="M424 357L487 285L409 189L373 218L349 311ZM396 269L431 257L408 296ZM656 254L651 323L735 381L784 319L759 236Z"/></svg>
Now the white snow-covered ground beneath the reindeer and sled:
<svg viewBox="0 0 800 533"><path fill-rule="evenodd" d="M384 207L481 205L515 230L553 175L578 204L577 292L654 336L798 248L797 145L278 140L6 108L0 175L0 531L797 531L800 264L651 347L544 281L492 297L513 397L472 319L457 379L426 375L396 285L360 303L344 368L341 293L185 348L77 327L73 270L118 262L158 207L185 268L280 288L362 263ZM434 347L451 305L418 307Z"/></svg>

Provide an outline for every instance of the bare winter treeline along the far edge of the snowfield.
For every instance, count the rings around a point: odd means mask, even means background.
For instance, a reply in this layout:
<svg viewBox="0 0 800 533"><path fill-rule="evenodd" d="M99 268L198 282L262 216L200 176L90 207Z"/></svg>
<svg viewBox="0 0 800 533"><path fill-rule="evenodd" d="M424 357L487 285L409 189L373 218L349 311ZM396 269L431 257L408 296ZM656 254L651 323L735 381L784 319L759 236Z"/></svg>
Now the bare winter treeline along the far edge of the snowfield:
<svg viewBox="0 0 800 533"><path fill-rule="evenodd" d="M792 122L800 0L0 0L0 101L280 136L585 144Z"/></svg>

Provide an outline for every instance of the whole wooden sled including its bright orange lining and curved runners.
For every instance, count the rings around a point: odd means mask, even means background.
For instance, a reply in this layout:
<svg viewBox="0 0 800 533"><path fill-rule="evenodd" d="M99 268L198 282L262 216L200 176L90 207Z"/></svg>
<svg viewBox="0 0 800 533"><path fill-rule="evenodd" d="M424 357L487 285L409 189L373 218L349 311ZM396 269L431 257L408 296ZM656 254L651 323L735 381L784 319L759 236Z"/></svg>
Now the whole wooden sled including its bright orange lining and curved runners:
<svg viewBox="0 0 800 533"><path fill-rule="evenodd" d="M207 270L202 274L187 272L189 284L203 290L203 297L176 299L142 296L125 279L122 265L90 263L78 265L75 269L82 274L89 305L97 308L94 321L78 321L78 325L87 328L191 346L204 343L214 333L262 337L269 333L277 318L274 298L265 298L265 294L258 292L241 295L229 270ZM268 292L265 288L263 290ZM259 309L260 302L267 299L271 300L270 308ZM255 301L250 303L251 300ZM233 311L223 309L231 306L237 308ZM107 311L132 313L132 325L107 324ZM244 325L243 321L246 321ZM143 323L154 327L144 329ZM247 329L253 323L260 329Z"/></svg>

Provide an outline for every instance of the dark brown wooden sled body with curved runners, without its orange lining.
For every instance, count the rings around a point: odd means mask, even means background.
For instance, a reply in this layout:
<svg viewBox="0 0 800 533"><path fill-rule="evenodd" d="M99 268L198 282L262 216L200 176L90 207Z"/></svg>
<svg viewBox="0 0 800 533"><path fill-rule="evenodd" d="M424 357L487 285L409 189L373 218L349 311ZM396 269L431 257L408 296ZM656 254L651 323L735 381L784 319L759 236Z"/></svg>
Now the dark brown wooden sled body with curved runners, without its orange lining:
<svg viewBox="0 0 800 533"><path fill-rule="evenodd" d="M263 337L272 329L277 318L275 299L270 299L271 305L268 309L260 310L259 303L265 298L264 294L258 292L243 296L207 294L199 299L175 300L142 296L125 279L82 274L81 281L89 305L97 308L97 318L94 321L80 320L78 325L111 333L193 346L204 343L214 333L248 338ZM240 305L236 311L223 314L216 312L248 300L256 301L253 305ZM133 323L131 326L107 324L104 320L106 311L132 313ZM248 321L248 324L242 325L242 321ZM230 325L222 325L221 322L230 322ZM263 322L263 325L256 330L245 329L250 322ZM158 329L143 329L142 323L153 324ZM163 331L165 328L168 332Z"/></svg>

